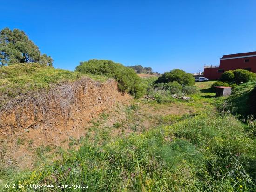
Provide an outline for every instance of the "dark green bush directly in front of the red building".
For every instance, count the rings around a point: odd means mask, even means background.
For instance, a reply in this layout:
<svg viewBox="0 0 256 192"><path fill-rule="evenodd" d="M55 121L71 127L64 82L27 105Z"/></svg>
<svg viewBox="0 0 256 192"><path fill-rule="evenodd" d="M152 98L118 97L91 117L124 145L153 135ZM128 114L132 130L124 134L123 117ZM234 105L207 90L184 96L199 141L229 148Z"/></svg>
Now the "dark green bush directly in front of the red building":
<svg viewBox="0 0 256 192"><path fill-rule="evenodd" d="M247 83L250 81L256 81L256 73L249 72L244 69L236 69L234 71L229 70L222 74L220 81L231 84Z"/></svg>

